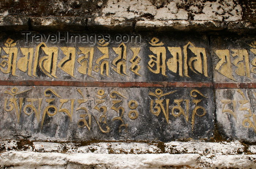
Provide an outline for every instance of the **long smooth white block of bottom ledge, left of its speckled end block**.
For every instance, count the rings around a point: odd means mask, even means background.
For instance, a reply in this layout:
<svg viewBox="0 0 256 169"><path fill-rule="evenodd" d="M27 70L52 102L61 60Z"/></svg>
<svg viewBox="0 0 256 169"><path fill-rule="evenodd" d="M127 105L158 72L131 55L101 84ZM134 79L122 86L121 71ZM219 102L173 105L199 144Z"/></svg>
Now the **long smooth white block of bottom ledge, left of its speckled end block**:
<svg viewBox="0 0 256 169"><path fill-rule="evenodd" d="M192 165L199 157L199 154L63 154L10 151L1 154L0 164L1 167L23 166L24 168L42 165L61 168L67 164L101 166L100 168L148 168L163 165Z"/></svg>

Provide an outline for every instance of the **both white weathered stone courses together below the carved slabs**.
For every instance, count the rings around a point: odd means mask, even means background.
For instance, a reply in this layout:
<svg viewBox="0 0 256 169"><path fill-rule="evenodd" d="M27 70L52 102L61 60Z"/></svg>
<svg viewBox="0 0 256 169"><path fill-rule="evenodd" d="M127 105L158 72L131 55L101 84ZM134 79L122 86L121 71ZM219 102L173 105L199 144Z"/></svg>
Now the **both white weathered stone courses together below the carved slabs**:
<svg viewBox="0 0 256 169"><path fill-rule="evenodd" d="M84 143L83 143L84 144ZM1 141L1 167L7 168L239 168L255 167L255 152L235 142ZM52 149L52 150L50 150ZM247 149L247 150L245 150ZM52 153L50 153L50 151ZM240 155L238 155L240 154Z"/></svg>

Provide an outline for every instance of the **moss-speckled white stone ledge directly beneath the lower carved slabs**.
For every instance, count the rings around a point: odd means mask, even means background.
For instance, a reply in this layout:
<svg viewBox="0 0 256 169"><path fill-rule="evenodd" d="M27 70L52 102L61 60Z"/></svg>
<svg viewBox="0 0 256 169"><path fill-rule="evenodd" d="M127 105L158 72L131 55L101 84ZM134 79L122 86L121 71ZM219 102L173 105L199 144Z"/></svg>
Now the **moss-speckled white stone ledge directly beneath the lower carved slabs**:
<svg viewBox="0 0 256 169"><path fill-rule="evenodd" d="M22 146L20 146L22 145ZM54 153L94 153L94 154L200 154L200 155L236 155L256 154L256 145L243 145L239 141L204 142L98 142L98 143L56 143L42 141L0 141L2 152L30 151Z"/></svg>

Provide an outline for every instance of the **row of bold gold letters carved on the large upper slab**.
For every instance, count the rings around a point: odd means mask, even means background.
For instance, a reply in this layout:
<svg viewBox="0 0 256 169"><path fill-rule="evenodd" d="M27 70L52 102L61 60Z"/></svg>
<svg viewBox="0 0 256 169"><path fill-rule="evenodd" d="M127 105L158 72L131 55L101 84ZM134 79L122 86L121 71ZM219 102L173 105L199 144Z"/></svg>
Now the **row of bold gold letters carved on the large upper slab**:
<svg viewBox="0 0 256 169"><path fill-rule="evenodd" d="M183 46L163 43L153 37L138 44L109 44L102 40L95 46L60 44L17 44L7 39L0 48L1 78L114 80L124 77L147 81L147 74L171 78L210 78L205 47L192 42ZM6 74L6 75L5 75ZM65 78L63 77L65 75ZM68 77L69 76L69 77ZM131 79L133 81L134 79Z"/></svg>

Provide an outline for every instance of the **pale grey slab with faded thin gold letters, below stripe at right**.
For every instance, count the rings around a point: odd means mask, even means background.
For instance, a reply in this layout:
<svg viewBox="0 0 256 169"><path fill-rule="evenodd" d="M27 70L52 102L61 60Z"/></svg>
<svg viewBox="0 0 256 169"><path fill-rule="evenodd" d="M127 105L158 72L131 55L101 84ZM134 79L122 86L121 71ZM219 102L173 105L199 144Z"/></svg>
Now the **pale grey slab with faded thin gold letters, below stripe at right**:
<svg viewBox="0 0 256 169"><path fill-rule="evenodd" d="M225 138L256 141L256 89L217 89L216 120Z"/></svg>

